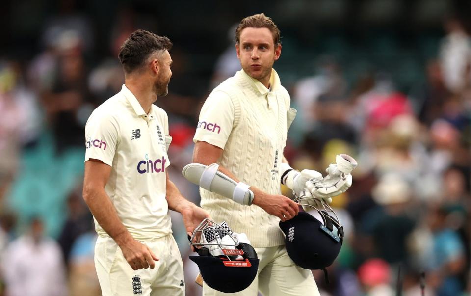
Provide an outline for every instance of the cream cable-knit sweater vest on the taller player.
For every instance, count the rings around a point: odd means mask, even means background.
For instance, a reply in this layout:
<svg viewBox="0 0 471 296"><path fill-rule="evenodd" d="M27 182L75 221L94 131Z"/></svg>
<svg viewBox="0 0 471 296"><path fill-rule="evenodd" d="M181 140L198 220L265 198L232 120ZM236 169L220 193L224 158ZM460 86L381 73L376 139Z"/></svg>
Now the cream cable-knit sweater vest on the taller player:
<svg viewBox="0 0 471 296"><path fill-rule="evenodd" d="M241 70L213 90L225 92L235 110L234 126L219 163L240 181L268 194L281 194L279 168L286 145L290 98L275 70L270 84L271 92L268 92ZM267 96L275 98L271 102L276 102L278 108L274 126L269 120L273 113L269 112ZM284 244L278 217L256 205L243 206L203 188L200 194L201 206L211 217L216 222L226 221L235 232L247 234L252 246Z"/></svg>

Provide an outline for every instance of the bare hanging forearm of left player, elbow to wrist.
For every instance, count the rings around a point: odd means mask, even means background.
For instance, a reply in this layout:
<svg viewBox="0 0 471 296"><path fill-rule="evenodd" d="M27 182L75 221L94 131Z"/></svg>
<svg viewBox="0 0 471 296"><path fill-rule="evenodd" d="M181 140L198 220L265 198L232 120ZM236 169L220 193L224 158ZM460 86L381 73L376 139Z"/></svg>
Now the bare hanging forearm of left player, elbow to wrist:
<svg viewBox="0 0 471 296"><path fill-rule="evenodd" d="M118 244L122 245L132 238L116 213L111 200L103 188L86 190L83 198L98 224Z"/></svg>

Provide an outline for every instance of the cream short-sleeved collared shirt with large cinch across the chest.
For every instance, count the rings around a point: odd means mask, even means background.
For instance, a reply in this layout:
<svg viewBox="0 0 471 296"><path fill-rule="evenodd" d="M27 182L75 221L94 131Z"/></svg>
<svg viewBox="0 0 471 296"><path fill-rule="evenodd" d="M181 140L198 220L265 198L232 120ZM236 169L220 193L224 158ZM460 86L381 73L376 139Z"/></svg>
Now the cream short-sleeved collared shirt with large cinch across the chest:
<svg viewBox="0 0 471 296"><path fill-rule="evenodd" d="M171 142L166 112L152 105L146 114L123 85L90 115L85 139L85 161L111 166L105 191L131 235L147 240L172 233L165 199ZM108 236L96 220L95 226L100 236Z"/></svg>

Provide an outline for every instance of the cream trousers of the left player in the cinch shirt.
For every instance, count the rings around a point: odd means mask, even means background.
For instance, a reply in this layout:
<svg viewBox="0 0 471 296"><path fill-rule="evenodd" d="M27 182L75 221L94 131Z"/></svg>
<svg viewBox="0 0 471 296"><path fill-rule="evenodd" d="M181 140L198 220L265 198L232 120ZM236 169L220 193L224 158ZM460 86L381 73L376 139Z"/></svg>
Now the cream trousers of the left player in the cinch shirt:
<svg viewBox="0 0 471 296"><path fill-rule="evenodd" d="M98 237L95 269L102 295L184 296L182 257L173 236L139 242L147 245L159 259L154 269L133 270L113 239Z"/></svg>

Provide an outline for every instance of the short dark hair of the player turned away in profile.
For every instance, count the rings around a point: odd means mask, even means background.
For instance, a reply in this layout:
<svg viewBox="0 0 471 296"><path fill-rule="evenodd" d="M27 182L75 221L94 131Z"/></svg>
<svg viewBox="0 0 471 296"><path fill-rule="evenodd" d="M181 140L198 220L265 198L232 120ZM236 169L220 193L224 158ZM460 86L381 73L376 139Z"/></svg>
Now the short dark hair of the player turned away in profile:
<svg viewBox="0 0 471 296"><path fill-rule="evenodd" d="M171 48L172 42L167 37L146 30L136 30L121 45L118 58L124 72L131 73L142 67L154 52Z"/></svg>

